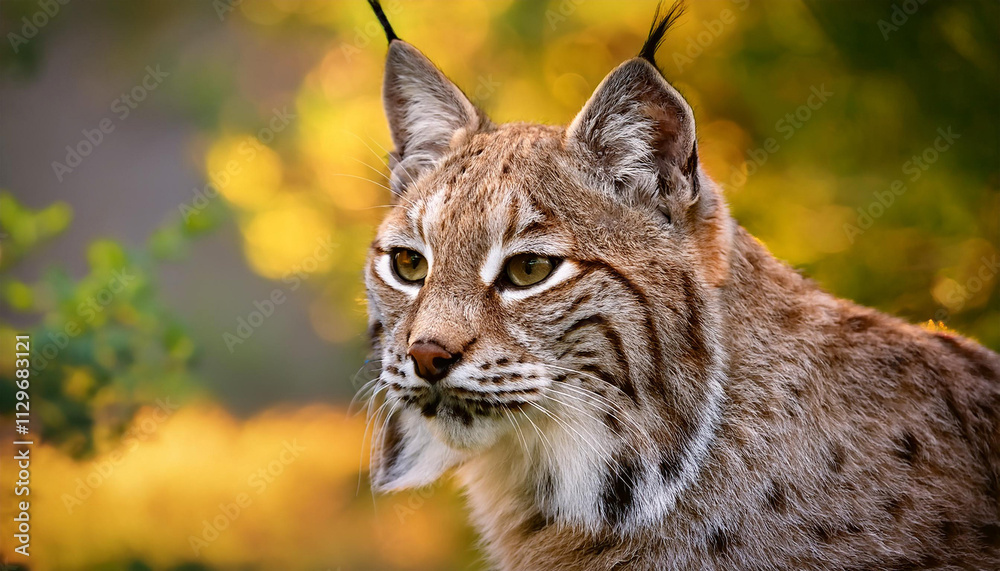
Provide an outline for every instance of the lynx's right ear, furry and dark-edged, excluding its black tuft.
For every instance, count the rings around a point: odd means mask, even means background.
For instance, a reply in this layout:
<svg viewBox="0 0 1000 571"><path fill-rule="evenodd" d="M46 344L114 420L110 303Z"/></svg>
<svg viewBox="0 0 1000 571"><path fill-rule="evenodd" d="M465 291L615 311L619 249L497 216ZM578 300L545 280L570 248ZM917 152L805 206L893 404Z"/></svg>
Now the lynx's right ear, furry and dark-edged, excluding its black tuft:
<svg viewBox="0 0 1000 571"><path fill-rule="evenodd" d="M694 114L652 63L631 59L608 74L567 131L599 186L676 218L698 200Z"/></svg>

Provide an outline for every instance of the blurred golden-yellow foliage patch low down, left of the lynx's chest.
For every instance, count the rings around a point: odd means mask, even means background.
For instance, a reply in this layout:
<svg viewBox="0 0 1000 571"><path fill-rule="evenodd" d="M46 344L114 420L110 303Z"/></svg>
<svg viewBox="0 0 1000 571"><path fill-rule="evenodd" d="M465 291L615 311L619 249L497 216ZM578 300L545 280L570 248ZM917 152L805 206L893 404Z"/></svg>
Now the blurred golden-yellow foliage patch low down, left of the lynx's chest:
<svg viewBox="0 0 1000 571"><path fill-rule="evenodd" d="M173 408L143 409L113 450L89 461L31 447L32 569L130 558L157 568L440 569L462 556L450 494L373 503L359 476L362 418L326 406L247 420L207 405ZM2 453L13 455L9 440ZM5 462L3 481L14 481L10 470ZM0 509L6 538L14 508Z"/></svg>

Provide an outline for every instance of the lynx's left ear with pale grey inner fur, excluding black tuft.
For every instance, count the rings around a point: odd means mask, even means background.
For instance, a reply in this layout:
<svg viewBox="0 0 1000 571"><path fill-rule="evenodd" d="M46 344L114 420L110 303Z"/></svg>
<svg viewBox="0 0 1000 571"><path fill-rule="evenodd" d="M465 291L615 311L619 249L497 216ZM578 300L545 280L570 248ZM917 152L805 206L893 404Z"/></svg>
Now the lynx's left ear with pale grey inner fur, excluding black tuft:
<svg viewBox="0 0 1000 571"><path fill-rule="evenodd" d="M382 101L396 146L390 164L396 194L432 167L456 134L489 124L424 54L398 39L389 42Z"/></svg>

